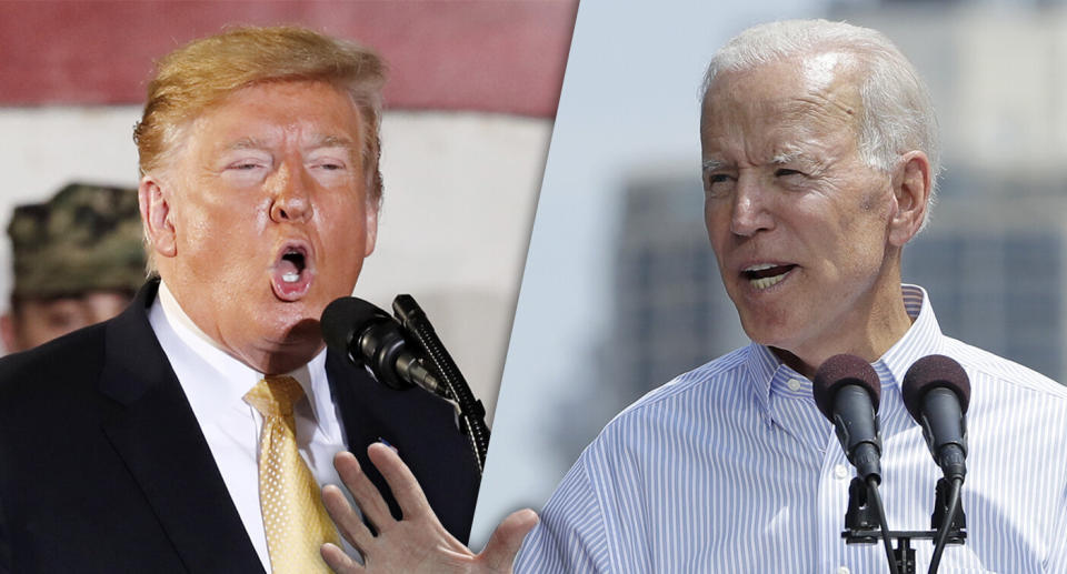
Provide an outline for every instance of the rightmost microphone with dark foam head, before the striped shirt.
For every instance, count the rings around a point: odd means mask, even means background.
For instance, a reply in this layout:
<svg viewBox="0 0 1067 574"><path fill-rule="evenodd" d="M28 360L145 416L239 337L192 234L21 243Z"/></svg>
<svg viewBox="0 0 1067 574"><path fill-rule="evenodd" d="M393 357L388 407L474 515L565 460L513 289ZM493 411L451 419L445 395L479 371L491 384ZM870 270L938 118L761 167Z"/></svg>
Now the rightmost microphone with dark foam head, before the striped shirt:
<svg viewBox="0 0 1067 574"><path fill-rule="evenodd" d="M904 375L900 392L908 412L923 425L923 437L945 479L963 482L970 402L970 379L964 367L945 355L924 356Z"/></svg>

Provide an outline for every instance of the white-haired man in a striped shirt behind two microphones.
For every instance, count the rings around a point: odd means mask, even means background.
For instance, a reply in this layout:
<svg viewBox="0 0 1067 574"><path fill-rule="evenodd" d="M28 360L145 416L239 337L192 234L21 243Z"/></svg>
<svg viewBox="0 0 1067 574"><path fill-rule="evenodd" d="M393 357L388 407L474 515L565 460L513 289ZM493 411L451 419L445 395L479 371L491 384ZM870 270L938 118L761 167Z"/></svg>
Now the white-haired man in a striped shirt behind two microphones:
<svg viewBox="0 0 1067 574"><path fill-rule="evenodd" d="M901 383L947 355L971 383L970 452L967 540L941 572L1067 572L1067 390L945 336L926 291L901 284L938 171L911 64L874 30L758 26L714 57L701 111L708 238L752 343L611 421L516 570L885 572L882 547L841 540L854 471L812 397L819 365L847 353L880 386L890 530L930 525L941 473ZM933 546L915 548L925 571Z"/></svg>

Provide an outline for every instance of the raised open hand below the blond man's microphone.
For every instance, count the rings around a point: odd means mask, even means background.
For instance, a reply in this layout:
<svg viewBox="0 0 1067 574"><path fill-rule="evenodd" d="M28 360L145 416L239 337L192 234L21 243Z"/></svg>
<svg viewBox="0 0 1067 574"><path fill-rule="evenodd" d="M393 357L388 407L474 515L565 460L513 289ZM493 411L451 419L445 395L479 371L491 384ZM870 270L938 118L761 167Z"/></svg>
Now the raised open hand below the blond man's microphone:
<svg viewBox="0 0 1067 574"><path fill-rule="evenodd" d="M333 465L352 493L363 516L378 535L371 534L359 514L348 504L340 489L322 489L322 502L338 531L363 556L360 565L333 544L322 545L322 558L337 574L353 573L470 573L510 574L522 538L537 524L537 514L527 508L512 513L497 530L480 554L475 554L441 526L422 487L400 456L385 444L367 449L370 461L389 484L403 518L389 513L378 489L370 482L351 453L338 453Z"/></svg>

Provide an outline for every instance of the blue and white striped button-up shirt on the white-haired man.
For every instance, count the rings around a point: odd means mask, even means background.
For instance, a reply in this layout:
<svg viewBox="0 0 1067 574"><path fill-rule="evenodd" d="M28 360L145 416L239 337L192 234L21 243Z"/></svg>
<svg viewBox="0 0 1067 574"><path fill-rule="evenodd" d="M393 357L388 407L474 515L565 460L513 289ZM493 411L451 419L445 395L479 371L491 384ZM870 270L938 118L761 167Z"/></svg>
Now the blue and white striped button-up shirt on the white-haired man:
<svg viewBox="0 0 1067 574"><path fill-rule="evenodd" d="M968 538L941 573L1067 573L1067 389L941 334L904 285L907 334L881 379L890 530L928 530L941 476L899 382L940 353L967 371ZM517 573L876 573L880 545L841 538L854 470L811 382L751 344L652 391L615 417L568 472L526 538ZM918 571L933 544L915 541Z"/></svg>

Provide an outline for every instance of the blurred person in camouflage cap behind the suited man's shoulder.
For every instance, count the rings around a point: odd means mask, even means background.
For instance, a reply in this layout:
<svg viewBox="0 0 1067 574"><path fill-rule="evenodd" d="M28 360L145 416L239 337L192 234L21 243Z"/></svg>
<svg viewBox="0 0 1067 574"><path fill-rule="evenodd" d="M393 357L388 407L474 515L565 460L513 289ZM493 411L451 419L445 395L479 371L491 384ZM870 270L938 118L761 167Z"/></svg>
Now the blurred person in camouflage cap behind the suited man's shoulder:
<svg viewBox="0 0 1067 574"><path fill-rule="evenodd" d="M70 183L17 207L8 235L14 285L0 335L9 353L111 319L144 282L136 189Z"/></svg>

